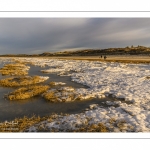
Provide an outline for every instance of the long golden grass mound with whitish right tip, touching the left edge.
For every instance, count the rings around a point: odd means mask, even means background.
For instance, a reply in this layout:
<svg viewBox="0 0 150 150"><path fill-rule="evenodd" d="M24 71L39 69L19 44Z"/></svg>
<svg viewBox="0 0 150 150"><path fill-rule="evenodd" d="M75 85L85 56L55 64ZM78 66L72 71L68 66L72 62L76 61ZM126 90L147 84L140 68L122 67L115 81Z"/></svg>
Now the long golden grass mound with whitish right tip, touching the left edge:
<svg viewBox="0 0 150 150"><path fill-rule="evenodd" d="M31 84L36 84L44 82L47 80L46 77L41 76L23 76L23 77L12 77L0 80L0 85L5 87L17 87L17 86L26 86Z"/></svg>

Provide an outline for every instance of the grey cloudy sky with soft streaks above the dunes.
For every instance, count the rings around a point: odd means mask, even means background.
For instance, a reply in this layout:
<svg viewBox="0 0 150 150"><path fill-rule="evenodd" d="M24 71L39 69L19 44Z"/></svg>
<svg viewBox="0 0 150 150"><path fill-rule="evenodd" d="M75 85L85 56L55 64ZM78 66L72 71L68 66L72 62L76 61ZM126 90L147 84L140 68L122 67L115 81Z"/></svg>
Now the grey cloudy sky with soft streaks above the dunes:
<svg viewBox="0 0 150 150"><path fill-rule="evenodd" d="M150 18L0 18L0 55L150 46Z"/></svg>

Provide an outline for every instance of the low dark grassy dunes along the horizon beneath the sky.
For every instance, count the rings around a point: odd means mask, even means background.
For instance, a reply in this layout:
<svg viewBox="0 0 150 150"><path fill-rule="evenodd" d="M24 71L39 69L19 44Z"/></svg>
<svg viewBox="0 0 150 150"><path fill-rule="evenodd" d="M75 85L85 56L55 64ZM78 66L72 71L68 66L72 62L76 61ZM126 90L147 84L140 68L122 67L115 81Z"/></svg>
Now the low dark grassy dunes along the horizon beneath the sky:
<svg viewBox="0 0 150 150"><path fill-rule="evenodd" d="M150 56L150 47L132 45L131 47L127 46L124 48L81 49L75 51L43 52L39 54L2 54L0 57L91 57L100 55Z"/></svg>

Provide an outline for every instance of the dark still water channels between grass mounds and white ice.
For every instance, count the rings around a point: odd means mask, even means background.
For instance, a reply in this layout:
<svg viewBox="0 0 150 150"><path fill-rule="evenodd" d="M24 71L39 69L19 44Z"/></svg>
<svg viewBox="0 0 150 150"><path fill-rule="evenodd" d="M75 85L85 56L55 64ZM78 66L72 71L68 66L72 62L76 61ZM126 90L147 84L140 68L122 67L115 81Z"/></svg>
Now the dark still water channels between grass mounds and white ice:
<svg viewBox="0 0 150 150"><path fill-rule="evenodd" d="M0 64L0 68L2 64ZM29 70L29 75L41 75L49 76L49 79L44 82L48 84L51 81L54 82L65 82L66 86L73 86L74 88L87 88L84 85L72 82L69 76L57 76L56 74L43 74L40 72L41 67L31 66ZM6 78L8 76L1 76L0 78ZM97 103L103 105L102 102L109 100L112 101L112 98L107 99L92 99L84 101L75 101L67 103L51 103L46 101L41 96L36 96L27 100L20 101L9 101L4 98L4 94L13 91L15 88L4 88L0 87L0 121L12 120L16 117L23 116L32 116L40 115L50 115L52 113L78 113L82 112L90 104Z"/></svg>

